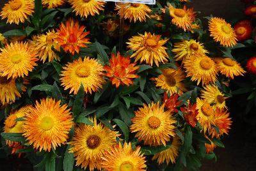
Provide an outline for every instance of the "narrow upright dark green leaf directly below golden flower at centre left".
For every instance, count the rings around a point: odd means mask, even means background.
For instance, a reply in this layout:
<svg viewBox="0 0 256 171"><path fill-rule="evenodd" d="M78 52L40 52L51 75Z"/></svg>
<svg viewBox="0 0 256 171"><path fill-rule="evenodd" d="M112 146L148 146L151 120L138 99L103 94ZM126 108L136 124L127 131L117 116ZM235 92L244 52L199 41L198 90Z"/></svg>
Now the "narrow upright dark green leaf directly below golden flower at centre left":
<svg viewBox="0 0 256 171"><path fill-rule="evenodd" d="M76 94L76 98L72 107L72 112L74 115L79 115L83 107L83 102L84 102L84 87L83 87L83 84L81 84Z"/></svg>

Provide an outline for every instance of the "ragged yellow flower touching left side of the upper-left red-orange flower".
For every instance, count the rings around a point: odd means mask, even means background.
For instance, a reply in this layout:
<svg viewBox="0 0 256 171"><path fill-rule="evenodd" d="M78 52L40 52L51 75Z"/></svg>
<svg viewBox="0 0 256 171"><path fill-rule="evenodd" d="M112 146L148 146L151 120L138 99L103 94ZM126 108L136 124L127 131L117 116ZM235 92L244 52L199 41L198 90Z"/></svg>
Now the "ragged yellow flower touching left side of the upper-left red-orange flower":
<svg viewBox="0 0 256 171"><path fill-rule="evenodd" d="M54 52L54 50L52 50L53 47L60 51L60 46L58 45L58 42L56 42L56 38L58 38L58 34L56 34L54 30L34 38L32 43L33 49L38 52L38 56L43 63L45 63L47 58L49 62L54 59L60 61L60 57Z"/></svg>

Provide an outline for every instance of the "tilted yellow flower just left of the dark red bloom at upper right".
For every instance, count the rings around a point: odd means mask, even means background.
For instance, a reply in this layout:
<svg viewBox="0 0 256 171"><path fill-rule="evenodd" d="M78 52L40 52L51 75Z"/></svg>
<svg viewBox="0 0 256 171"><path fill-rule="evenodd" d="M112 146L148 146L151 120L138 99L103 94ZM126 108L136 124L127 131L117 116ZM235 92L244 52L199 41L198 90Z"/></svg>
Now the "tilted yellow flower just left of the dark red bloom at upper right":
<svg viewBox="0 0 256 171"><path fill-rule="evenodd" d="M232 47L237 44L236 33L229 23L218 17L209 20L210 36L225 47Z"/></svg>

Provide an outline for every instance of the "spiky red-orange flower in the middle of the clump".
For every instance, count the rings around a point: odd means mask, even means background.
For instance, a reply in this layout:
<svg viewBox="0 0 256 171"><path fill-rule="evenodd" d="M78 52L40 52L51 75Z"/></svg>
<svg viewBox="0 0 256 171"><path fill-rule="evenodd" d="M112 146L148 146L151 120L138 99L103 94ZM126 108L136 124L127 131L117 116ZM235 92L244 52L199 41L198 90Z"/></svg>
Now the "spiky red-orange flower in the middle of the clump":
<svg viewBox="0 0 256 171"><path fill-rule="evenodd" d="M109 59L110 66L104 66L104 70L107 71L106 76L113 85L119 87L120 84L127 85L133 84L132 78L138 78L139 76L134 74L138 70L139 66L135 66L136 63L131 63L130 57L120 56L112 54Z"/></svg>

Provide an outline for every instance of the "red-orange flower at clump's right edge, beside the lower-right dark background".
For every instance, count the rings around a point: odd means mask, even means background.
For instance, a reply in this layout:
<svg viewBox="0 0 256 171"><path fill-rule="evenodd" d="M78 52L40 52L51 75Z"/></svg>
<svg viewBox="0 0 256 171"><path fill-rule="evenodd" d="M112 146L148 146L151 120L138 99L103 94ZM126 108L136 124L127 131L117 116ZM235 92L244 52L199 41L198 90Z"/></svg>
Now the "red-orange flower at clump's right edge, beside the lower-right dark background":
<svg viewBox="0 0 256 171"><path fill-rule="evenodd" d="M230 130L230 125L232 123L230 120L231 117L229 117L227 110L216 108L214 123L216 124L216 127L218 127L218 130L216 130L216 128L211 128L210 135L212 135L212 138L220 138L224 133L228 134L228 130Z"/></svg>

